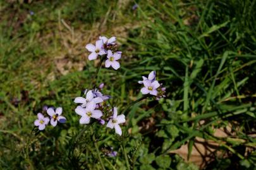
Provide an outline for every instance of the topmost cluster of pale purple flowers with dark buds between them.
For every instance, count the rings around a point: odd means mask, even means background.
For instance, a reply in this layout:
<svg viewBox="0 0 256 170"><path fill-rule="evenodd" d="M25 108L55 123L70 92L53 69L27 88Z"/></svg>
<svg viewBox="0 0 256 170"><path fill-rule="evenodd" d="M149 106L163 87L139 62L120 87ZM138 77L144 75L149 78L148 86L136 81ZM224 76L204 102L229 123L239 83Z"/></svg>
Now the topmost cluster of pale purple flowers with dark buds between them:
<svg viewBox="0 0 256 170"><path fill-rule="evenodd" d="M98 56L101 56L102 60L105 60L105 67L113 67L117 70L120 67L118 62L121 59L122 52L117 50L116 37L99 37L99 40L96 41L95 45L88 43L85 48L91 54L88 56L89 60L95 60Z"/></svg>

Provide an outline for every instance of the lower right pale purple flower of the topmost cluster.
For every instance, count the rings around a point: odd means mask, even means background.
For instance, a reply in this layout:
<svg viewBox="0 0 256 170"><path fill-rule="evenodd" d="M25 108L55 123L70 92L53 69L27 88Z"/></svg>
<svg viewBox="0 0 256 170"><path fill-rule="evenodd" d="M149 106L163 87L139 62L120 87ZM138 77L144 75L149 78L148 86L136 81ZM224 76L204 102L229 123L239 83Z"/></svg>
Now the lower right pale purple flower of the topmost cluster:
<svg viewBox="0 0 256 170"><path fill-rule="evenodd" d="M119 69L120 64L116 60L121 58L121 53L113 52L111 50L107 50L107 60L105 62L105 67L113 67L115 70Z"/></svg>

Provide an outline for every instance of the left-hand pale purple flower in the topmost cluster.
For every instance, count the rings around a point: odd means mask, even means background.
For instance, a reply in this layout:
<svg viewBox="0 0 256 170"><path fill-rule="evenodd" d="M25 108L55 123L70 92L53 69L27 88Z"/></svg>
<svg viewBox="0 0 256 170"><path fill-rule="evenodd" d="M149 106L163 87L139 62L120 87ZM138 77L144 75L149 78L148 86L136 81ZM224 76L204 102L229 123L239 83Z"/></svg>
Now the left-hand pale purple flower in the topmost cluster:
<svg viewBox="0 0 256 170"><path fill-rule="evenodd" d="M88 43L85 48L87 48L87 50L89 52L92 52L89 56L88 59L89 60L95 60L97 59L98 55L104 55L106 54L106 51L103 48L103 41L102 40L97 40L96 41L96 45L93 45L92 43Z"/></svg>

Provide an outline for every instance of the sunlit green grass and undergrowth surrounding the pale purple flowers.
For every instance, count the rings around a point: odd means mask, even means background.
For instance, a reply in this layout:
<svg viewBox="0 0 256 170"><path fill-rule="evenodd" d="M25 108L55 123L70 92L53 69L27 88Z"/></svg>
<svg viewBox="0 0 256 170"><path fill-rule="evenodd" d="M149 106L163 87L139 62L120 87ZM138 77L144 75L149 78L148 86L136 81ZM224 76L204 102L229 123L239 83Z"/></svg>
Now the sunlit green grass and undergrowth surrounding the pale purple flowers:
<svg viewBox="0 0 256 170"><path fill-rule="evenodd" d="M197 169L169 153L186 143L191 152L195 137L225 142L228 156L205 169L255 168L256 1L137 3L0 2L1 169L101 169L94 136L106 169L127 169L124 149L131 169ZM74 111L96 70L84 46L99 35L123 51L121 69L95 81L119 110L142 96L137 81L152 70L167 88L165 99L131 107L124 139L100 125L92 134ZM44 105L62 106L68 122L35 135ZM227 126L232 136L213 135ZM109 147L117 157L104 155Z"/></svg>

